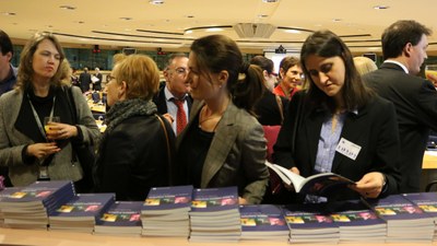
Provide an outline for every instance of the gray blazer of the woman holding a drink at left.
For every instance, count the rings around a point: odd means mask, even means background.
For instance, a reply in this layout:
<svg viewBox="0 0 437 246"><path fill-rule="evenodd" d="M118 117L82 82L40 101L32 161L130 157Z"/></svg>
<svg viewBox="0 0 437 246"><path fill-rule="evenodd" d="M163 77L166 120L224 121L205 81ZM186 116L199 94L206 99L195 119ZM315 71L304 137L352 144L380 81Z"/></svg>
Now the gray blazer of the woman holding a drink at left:
<svg viewBox="0 0 437 246"><path fill-rule="evenodd" d="M101 132L91 114L90 107L79 87L72 87L76 107L79 127L84 142L96 143ZM23 92L10 91L0 97L0 165L9 166L9 176L14 186L26 186L34 183L39 175L38 163L23 163L23 149L34 143L32 139L15 129L14 124L23 102ZM66 108L68 110L68 108ZM48 166L51 179L79 180L83 171L79 162L72 161L72 147L68 143Z"/></svg>

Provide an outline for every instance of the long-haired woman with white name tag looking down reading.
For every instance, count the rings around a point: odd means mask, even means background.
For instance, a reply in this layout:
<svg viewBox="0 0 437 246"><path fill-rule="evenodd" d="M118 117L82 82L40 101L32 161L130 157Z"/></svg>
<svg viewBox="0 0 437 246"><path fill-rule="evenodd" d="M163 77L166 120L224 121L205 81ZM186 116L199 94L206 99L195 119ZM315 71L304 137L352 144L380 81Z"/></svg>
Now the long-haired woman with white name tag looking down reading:
<svg viewBox="0 0 437 246"><path fill-rule="evenodd" d="M336 199L395 194L400 140L393 105L364 86L335 34L310 35L300 58L309 89L290 103L274 147L276 163L304 177L332 172L356 181L350 188L357 192L338 190Z"/></svg>

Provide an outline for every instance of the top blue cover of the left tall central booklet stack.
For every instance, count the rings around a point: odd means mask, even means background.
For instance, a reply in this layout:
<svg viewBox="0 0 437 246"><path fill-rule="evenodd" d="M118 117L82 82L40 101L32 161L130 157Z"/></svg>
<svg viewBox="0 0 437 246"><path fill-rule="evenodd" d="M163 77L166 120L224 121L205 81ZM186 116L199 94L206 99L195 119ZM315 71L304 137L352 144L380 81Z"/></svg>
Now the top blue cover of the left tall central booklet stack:
<svg viewBox="0 0 437 246"><path fill-rule="evenodd" d="M192 186L153 187L150 189L142 210L168 210L191 206Z"/></svg>

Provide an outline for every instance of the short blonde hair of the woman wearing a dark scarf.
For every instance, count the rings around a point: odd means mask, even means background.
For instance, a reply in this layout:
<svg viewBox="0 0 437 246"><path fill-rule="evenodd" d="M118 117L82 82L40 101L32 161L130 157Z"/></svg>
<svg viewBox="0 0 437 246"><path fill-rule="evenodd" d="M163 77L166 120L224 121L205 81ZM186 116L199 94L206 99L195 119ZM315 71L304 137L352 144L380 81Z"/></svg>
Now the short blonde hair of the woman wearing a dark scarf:
<svg viewBox="0 0 437 246"><path fill-rule="evenodd" d="M158 91L160 70L155 61L146 55L130 55L114 68L117 83L126 82L126 98L152 99Z"/></svg>

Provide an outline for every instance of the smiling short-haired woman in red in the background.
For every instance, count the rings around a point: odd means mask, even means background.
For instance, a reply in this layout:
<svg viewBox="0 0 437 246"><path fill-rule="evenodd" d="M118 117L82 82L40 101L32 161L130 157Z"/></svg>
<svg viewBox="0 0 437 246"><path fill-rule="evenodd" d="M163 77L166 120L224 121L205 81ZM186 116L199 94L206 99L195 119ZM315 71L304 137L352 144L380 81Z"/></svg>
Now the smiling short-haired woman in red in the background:
<svg viewBox="0 0 437 246"><path fill-rule="evenodd" d="M273 89L273 93L291 99L299 91L302 84L300 61L296 57L284 57L280 63L281 82Z"/></svg>

